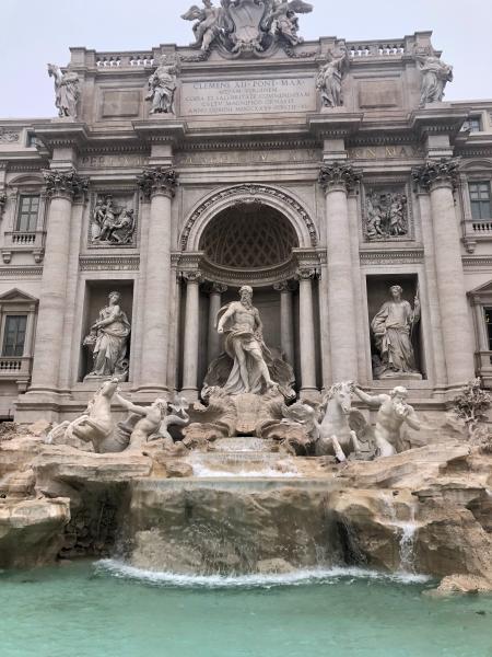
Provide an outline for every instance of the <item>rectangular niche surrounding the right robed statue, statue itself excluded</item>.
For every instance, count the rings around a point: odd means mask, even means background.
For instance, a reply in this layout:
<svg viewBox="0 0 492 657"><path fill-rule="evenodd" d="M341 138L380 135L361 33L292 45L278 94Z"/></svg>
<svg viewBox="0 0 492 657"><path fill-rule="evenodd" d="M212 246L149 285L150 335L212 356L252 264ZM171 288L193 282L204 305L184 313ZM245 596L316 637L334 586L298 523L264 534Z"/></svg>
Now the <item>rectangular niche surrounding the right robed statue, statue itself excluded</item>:
<svg viewBox="0 0 492 657"><path fill-rule="evenodd" d="M368 353L367 353L367 369L368 369L368 381L373 387L395 388L395 385L405 385L408 389L412 388L427 388L430 379L430 370L432 364L427 362L425 351L425 339L424 335L427 331L426 327L426 302L425 302L425 290L421 285L421 275L417 272L402 273L365 273L365 297L366 297L366 335L368 336ZM377 355L377 350L374 345L374 337L371 330L371 322L374 315L377 313L379 308L385 301L389 299L389 288L393 285L400 285L403 288L402 298L409 301L413 308L413 299L415 292L420 291L421 302L421 319L413 335L412 344L415 351L417 368L422 373L422 380L412 379L376 379L374 377L372 357Z"/></svg>

